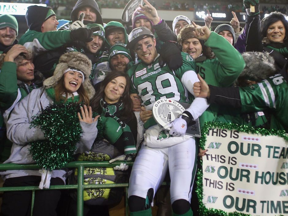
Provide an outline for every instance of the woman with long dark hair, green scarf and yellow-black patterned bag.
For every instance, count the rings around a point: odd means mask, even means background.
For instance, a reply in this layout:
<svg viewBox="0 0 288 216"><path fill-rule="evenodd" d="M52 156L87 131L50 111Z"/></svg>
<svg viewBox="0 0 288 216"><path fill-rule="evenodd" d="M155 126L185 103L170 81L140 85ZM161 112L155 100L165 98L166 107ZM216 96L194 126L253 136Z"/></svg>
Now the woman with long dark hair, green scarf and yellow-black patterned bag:
<svg viewBox="0 0 288 216"><path fill-rule="evenodd" d="M128 75L116 70L108 73L101 81L99 91L91 100L91 106L94 112L100 113L103 129L101 133L99 131L91 150L82 153L78 160L112 163L117 160L131 160L136 153L137 120L132 111L129 83ZM115 166L115 171L108 167L85 168L84 182L106 184L109 180L123 183L127 180L127 172L122 171L127 169L125 163ZM84 191L84 212L92 210L93 205L115 204L121 200L122 195L122 188L102 188L102 191L87 189ZM69 215L76 215L72 207L69 209Z"/></svg>

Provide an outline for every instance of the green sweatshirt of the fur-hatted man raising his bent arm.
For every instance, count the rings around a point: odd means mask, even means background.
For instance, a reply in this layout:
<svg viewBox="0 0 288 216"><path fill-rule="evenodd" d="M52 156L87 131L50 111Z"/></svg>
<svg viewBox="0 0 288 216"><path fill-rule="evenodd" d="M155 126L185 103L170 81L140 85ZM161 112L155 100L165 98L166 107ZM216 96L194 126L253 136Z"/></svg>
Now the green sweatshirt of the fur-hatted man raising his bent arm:
<svg viewBox="0 0 288 216"><path fill-rule="evenodd" d="M241 54L221 35L211 32L210 37L205 42L210 47L216 58L206 59L199 56L195 59L197 73L207 82L207 84L218 87L228 87L241 74L245 67ZM210 107L200 116L200 124L206 121L217 121L219 107L211 104Z"/></svg>

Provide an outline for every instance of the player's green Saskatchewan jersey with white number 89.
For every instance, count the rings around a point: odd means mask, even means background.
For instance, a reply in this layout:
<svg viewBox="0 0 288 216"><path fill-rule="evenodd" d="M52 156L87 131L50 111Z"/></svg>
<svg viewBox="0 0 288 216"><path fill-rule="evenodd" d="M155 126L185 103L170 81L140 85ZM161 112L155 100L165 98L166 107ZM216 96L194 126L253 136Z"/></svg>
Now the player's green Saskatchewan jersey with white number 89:
<svg viewBox="0 0 288 216"><path fill-rule="evenodd" d="M183 65L176 70L171 70L167 65L160 67L158 55L152 64L140 62L127 71L132 81L131 92L141 97L146 110L152 110L153 104L161 98L189 102L188 91L181 78L188 70L196 71L196 65L191 55L184 52L181 55Z"/></svg>

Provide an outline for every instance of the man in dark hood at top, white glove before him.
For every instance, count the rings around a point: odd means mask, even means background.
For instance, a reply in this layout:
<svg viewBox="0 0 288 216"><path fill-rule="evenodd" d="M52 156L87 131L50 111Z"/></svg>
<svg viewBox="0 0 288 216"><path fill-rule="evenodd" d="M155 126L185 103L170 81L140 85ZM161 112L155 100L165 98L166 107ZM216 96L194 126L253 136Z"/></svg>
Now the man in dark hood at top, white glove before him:
<svg viewBox="0 0 288 216"><path fill-rule="evenodd" d="M84 13L83 22L78 20L81 13ZM85 27L88 23L103 25L100 9L95 0L78 0L71 12L71 21L62 25L58 30L72 30Z"/></svg>

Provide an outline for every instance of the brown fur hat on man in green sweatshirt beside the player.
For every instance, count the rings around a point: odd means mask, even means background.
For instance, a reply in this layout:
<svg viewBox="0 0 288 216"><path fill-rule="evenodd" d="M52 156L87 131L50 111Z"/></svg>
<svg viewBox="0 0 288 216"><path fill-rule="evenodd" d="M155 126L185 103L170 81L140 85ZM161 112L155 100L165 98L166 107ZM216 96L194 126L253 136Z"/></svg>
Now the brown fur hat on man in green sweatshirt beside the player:
<svg viewBox="0 0 288 216"><path fill-rule="evenodd" d="M179 34L177 35L177 42L179 44L181 44L181 46L183 45L184 40L188 40L190 38L196 38L193 34L193 31L195 30L194 25L190 24L190 25L186 25L184 26ZM202 52L204 55L206 55L206 57L208 59L213 59L213 54L212 54L212 50L204 45L204 40L199 40L200 44L202 45Z"/></svg>

